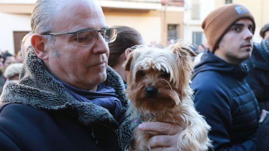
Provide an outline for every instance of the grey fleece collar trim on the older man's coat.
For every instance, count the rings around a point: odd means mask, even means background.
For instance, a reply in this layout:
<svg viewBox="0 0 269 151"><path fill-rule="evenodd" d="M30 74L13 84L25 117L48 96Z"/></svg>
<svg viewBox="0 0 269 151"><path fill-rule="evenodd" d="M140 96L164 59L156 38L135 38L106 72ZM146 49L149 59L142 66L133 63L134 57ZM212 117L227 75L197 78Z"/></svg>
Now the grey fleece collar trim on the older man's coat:
<svg viewBox="0 0 269 151"><path fill-rule="evenodd" d="M90 77L89 77L90 78ZM125 87L120 76L107 67L105 83L116 90L116 95L122 102L122 112L126 111L127 101L123 93ZM66 107L76 109L79 121L85 125L96 122L117 125L114 117L103 107L90 102L79 102L56 81L45 69L42 60L36 55L27 54L19 81L9 81L1 95L2 103L21 103L35 109L60 110Z"/></svg>

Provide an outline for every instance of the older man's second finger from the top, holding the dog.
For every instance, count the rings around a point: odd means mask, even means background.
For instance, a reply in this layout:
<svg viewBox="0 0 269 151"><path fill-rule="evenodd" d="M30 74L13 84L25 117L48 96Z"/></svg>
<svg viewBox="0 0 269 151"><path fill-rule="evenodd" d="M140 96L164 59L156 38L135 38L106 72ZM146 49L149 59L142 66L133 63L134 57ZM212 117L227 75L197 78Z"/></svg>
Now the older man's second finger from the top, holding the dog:
<svg viewBox="0 0 269 151"><path fill-rule="evenodd" d="M155 148L159 146L171 147L174 142L174 140L172 139L176 139L176 138L169 135L156 135L149 138L149 145L150 145L150 148Z"/></svg>

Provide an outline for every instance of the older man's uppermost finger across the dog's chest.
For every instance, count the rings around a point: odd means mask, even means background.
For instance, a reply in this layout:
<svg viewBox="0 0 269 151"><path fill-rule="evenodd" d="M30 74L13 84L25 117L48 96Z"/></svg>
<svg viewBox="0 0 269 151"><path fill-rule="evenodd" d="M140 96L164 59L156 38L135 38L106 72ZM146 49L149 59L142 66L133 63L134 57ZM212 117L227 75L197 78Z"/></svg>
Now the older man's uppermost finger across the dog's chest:
<svg viewBox="0 0 269 151"><path fill-rule="evenodd" d="M164 122L145 122L138 125L141 131L157 132L160 135L175 135L179 133L179 126Z"/></svg>

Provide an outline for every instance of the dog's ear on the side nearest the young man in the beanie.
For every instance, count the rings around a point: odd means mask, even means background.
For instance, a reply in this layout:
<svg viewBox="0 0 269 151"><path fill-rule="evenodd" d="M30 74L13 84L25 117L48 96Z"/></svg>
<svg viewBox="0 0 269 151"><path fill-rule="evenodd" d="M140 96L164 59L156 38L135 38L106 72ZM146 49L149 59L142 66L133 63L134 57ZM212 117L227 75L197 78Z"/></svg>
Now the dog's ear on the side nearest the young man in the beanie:
<svg viewBox="0 0 269 151"><path fill-rule="evenodd" d="M195 57L197 56L193 51L192 49L190 48L190 46L186 45L186 44L183 44L183 41L182 40L179 40L177 43L175 43L173 45L173 48L172 48L172 51L177 54L177 55L187 55L189 54L190 56L192 57ZM187 53L187 54L186 54Z"/></svg>

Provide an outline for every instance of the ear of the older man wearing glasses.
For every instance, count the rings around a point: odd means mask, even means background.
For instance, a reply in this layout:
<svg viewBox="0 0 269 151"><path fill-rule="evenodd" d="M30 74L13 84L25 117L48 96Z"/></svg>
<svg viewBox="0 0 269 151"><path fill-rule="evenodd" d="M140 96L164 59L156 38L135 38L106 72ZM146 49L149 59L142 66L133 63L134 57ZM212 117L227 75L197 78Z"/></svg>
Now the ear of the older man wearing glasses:
<svg viewBox="0 0 269 151"><path fill-rule="evenodd" d="M46 39L40 34L33 34L31 38L31 44L35 49L35 54L41 60L49 59L49 54L45 50Z"/></svg>

